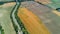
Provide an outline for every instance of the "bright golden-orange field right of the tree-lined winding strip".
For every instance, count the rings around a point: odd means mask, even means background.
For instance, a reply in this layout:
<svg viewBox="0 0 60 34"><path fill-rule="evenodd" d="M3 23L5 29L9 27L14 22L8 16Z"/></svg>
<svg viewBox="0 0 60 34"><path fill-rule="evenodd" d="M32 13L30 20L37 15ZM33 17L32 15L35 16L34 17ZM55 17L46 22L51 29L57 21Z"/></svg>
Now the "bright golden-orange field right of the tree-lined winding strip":
<svg viewBox="0 0 60 34"><path fill-rule="evenodd" d="M18 17L21 19L30 34L50 34L41 20L30 10L26 8L19 9Z"/></svg>

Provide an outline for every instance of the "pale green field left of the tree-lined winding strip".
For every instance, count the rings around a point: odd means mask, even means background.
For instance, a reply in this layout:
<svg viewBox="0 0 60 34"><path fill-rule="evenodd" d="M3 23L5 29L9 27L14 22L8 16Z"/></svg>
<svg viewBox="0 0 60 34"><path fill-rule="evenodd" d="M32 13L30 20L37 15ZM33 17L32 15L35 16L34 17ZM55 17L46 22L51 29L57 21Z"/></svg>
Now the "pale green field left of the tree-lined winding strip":
<svg viewBox="0 0 60 34"><path fill-rule="evenodd" d="M14 5L0 5L0 24L4 29L4 34L16 34L12 21L10 19L10 13Z"/></svg>

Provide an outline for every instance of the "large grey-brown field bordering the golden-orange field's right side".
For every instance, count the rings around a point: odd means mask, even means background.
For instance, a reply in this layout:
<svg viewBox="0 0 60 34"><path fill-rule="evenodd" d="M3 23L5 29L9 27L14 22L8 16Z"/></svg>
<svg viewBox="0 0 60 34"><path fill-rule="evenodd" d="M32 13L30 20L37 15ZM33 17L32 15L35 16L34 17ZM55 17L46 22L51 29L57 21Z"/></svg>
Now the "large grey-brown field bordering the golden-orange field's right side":
<svg viewBox="0 0 60 34"><path fill-rule="evenodd" d="M54 13L54 9L33 1L22 2L22 7L26 7L35 13L52 34L60 33L60 16Z"/></svg>

